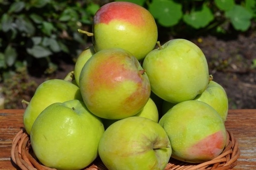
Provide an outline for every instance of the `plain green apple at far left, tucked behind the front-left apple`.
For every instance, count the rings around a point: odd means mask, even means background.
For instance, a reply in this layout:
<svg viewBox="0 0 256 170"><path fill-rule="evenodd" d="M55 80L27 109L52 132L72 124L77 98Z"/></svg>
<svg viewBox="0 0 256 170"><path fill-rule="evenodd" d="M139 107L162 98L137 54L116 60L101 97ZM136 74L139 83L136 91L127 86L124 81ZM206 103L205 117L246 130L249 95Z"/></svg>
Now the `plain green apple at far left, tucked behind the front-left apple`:
<svg viewBox="0 0 256 170"><path fill-rule="evenodd" d="M63 79L49 79L41 83L23 114L26 132L30 134L35 119L47 106L55 102L65 102L72 99L82 100L79 87L72 82Z"/></svg>

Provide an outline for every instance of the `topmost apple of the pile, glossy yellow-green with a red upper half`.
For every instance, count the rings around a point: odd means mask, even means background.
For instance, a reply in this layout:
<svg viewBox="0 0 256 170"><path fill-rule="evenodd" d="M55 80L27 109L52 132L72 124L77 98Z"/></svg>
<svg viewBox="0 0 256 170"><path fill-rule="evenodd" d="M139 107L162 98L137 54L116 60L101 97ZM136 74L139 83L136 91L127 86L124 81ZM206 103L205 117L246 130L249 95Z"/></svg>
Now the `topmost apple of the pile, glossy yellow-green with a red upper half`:
<svg viewBox="0 0 256 170"><path fill-rule="evenodd" d="M134 3L111 2L93 18L93 45L96 52L123 48L142 60L157 42L157 25L148 10Z"/></svg>

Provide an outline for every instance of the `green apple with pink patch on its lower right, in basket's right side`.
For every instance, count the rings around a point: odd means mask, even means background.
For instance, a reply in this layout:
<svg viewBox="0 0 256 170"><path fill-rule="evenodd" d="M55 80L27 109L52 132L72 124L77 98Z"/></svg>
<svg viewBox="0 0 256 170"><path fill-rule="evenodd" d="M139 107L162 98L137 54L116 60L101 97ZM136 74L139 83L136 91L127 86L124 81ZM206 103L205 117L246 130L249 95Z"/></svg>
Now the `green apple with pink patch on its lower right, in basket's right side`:
<svg viewBox="0 0 256 170"><path fill-rule="evenodd" d="M200 163L218 156L226 145L221 116L205 102L188 100L173 106L159 124L169 136L172 158Z"/></svg>

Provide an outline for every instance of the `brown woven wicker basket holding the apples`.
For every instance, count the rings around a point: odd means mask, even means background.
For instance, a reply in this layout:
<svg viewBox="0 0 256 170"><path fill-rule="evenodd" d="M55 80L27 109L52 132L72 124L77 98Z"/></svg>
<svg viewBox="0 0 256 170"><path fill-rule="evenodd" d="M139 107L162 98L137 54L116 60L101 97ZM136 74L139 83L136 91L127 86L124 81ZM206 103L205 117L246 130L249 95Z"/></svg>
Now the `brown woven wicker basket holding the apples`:
<svg viewBox="0 0 256 170"><path fill-rule="evenodd" d="M170 159L165 170L229 170L236 166L237 159L240 155L238 141L233 134L227 130L227 144L223 152L212 159L201 164L186 163ZM54 168L46 167L36 159L29 135L24 129L20 130L13 139L11 158L22 170L55 170ZM108 170L102 161L97 158L84 170Z"/></svg>

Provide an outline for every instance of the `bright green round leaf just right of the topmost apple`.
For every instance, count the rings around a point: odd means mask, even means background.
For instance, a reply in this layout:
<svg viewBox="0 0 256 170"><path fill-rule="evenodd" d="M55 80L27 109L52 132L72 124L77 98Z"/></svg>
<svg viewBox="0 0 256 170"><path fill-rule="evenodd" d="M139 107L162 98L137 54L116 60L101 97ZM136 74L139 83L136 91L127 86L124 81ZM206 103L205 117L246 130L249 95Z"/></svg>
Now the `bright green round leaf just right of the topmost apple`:
<svg viewBox="0 0 256 170"><path fill-rule="evenodd" d="M172 0L153 0L148 11L165 27L176 25L182 17L182 6Z"/></svg>

